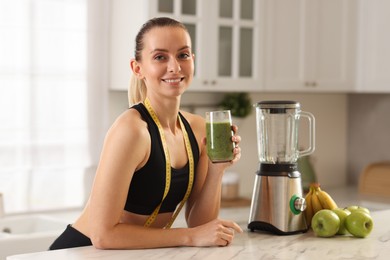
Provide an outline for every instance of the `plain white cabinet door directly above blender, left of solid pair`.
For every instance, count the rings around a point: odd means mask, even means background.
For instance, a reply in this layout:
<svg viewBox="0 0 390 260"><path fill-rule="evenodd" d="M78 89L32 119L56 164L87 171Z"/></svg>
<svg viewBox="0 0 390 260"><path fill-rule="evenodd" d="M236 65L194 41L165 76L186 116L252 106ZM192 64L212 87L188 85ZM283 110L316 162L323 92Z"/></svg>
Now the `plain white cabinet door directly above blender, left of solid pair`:
<svg viewBox="0 0 390 260"><path fill-rule="evenodd" d="M306 43L307 10L301 0L266 1L267 90L300 89L309 77Z"/></svg>

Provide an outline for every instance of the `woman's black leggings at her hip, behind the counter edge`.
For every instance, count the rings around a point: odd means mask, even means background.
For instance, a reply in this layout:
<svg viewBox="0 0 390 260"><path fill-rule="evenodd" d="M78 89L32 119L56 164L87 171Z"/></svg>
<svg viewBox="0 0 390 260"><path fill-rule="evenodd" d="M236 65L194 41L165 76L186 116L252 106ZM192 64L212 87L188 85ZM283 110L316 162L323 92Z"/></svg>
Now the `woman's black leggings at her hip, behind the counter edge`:
<svg viewBox="0 0 390 260"><path fill-rule="evenodd" d="M65 231L53 242L53 244L51 244L49 250L91 245L92 241L89 237L73 228L71 225L68 225Z"/></svg>

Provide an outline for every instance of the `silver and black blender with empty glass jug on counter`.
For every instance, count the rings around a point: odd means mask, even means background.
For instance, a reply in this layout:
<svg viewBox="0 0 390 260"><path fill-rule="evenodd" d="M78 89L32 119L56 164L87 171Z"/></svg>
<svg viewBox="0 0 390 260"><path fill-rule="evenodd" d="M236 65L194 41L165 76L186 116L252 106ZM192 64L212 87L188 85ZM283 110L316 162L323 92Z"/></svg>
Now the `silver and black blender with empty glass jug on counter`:
<svg viewBox="0 0 390 260"><path fill-rule="evenodd" d="M295 101L255 104L259 169L256 172L248 229L277 235L306 232L299 157L314 152L314 116ZM309 145L298 148L300 118L309 122Z"/></svg>

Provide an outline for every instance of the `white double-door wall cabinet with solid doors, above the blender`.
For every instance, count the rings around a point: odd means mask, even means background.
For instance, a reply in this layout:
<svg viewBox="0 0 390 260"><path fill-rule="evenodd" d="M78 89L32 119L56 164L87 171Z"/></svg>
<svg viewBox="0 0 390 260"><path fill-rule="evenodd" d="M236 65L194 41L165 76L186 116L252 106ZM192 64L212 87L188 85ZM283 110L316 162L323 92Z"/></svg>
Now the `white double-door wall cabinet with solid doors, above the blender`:
<svg viewBox="0 0 390 260"><path fill-rule="evenodd" d="M267 0L265 89L344 92L354 84L354 0Z"/></svg>

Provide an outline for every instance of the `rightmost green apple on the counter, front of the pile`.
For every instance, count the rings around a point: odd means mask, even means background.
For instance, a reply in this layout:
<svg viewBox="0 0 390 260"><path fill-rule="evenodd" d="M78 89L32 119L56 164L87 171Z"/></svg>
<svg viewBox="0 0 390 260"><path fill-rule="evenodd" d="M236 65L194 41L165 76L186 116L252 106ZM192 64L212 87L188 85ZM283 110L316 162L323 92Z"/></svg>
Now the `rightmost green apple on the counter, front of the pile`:
<svg viewBox="0 0 390 260"><path fill-rule="evenodd" d="M374 221L366 212L355 210L346 217L345 227L355 237L366 237L371 233Z"/></svg>

